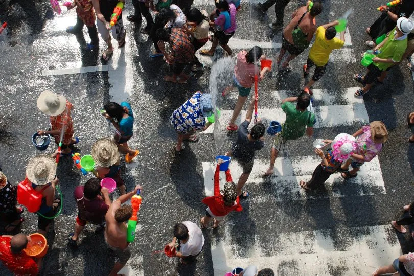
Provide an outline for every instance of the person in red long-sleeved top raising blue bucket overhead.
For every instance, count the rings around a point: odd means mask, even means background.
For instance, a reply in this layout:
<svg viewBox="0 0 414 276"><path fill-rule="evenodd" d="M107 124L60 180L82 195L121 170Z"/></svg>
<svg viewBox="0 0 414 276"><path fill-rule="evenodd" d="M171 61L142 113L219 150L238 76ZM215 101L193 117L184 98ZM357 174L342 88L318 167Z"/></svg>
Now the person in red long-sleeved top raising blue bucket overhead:
<svg viewBox="0 0 414 276"><path fill-rule="evenodd" d="M240 206L240 199L237 196L236 184L233 183L230 170L226 171L226 181L224 185L224 192L220 193L220 164L223 163L223 159L217 159L216 172L214 173L214 196L208 196L201 202L207 205L205 210L205 216L200 219L201 228L205 228L209 225L210 219L214 218L213 229L216 229L220 221L227 217L228 213L232 211L242 211Z"/></svg>

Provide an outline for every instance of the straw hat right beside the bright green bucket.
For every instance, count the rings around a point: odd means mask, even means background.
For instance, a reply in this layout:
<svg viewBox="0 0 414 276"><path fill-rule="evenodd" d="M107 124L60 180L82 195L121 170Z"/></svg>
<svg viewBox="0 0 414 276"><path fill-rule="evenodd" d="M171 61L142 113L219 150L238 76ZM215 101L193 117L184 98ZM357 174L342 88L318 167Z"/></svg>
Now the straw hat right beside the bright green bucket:
<svg viewBox="0 0 414 276"><path fill-rule="evenodd" d="M112 166L119 159L117 144L108 138L95 141L92 145L91 155L95 163L104 168Z"/></svg>

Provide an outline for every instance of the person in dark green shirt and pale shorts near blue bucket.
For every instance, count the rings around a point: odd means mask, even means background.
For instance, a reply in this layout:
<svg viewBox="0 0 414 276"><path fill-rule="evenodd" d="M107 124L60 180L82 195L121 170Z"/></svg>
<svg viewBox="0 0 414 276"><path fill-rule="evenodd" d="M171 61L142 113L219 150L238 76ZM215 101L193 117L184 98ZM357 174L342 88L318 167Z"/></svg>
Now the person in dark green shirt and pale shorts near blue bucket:
<svg viewBox="0 0 414 276"><path fill-rule="evenodd" d="M282 130L273 142L273 147L270 150L270 167L265 172L265 176L274 173L274 162L276 157L287 140L296 140L305 134L308 137L313 134L313 124L315 123L315 114L306 110L310 103L310 95L302 92L298 97L286 98L282 101L282 110L286 113L286 121L282 125ZM297 102L296 106L292 102ZM307 128L306 128L307 126Z"/></svg>

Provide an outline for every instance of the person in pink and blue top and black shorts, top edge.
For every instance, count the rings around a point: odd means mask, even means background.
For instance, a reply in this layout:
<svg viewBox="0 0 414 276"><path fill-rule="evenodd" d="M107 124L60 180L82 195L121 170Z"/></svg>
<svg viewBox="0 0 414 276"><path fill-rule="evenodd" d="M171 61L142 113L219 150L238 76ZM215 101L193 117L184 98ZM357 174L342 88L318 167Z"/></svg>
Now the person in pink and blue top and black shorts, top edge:
<svg viewBox="0 0 414 276"><path fill-rule="evenodd" d="M232 49L228 47L227 43L230 38L234 35L237 24L236 24L236 6L231 2L228 4L226 0L216 0L216 15L217 17L213 21L210 21L209 24L212 26L214 31L214 36L209 37L212 41L210 50L201 50L200 55L204 56L214 56L217 45L220 46L228 53L229 56L232 55ZM210 19L212 20L212 19Z"/></svg>

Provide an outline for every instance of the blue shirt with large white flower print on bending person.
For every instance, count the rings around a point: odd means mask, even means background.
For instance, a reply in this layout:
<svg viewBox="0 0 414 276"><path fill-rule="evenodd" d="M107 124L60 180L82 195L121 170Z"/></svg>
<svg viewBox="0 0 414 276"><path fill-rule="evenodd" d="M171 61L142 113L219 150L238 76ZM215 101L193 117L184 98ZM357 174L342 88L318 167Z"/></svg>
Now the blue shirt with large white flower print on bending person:
<svg viewBox="0 0 414 276"><path fill-rule="evenodd" d="M170 117L170 123L179 133L186 133L191 129L201 130L204 128L206 119L200 108L201 92L196 92L183 105L177 108Z"/></svg>

